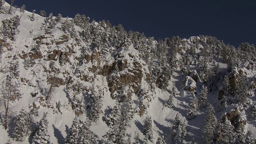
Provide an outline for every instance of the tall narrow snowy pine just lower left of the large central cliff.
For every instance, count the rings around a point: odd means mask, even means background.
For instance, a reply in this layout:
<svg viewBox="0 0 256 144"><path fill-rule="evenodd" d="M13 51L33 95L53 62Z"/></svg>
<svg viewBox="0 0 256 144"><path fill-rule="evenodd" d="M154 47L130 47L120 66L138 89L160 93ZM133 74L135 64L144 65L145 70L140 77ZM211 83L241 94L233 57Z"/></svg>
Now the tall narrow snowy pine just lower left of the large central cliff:
<svg viewBox="0 0 256 144"><path fill-rule="evenodd" d="M89 99L90 99L90 120L92 122L98 122L100 118L100 114L102 111L102 97L103 97L103 91L101 88L98 88L96 91L95 88L91 87L89 92Z"/></svg>

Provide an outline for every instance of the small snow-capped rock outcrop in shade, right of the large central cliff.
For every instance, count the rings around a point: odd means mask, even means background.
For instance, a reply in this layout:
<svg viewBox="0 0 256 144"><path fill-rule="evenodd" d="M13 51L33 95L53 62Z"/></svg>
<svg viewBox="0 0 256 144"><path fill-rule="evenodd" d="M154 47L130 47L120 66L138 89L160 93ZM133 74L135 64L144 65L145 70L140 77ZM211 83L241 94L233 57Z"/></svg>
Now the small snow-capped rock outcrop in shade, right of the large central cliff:
<svg viewBox="0 0 256 144"><path fill-rule="evenodd" d="M190 76L186 76L186 78L182 82L182 90L188 90L191 93L196 94L196 82Z"/></svg>

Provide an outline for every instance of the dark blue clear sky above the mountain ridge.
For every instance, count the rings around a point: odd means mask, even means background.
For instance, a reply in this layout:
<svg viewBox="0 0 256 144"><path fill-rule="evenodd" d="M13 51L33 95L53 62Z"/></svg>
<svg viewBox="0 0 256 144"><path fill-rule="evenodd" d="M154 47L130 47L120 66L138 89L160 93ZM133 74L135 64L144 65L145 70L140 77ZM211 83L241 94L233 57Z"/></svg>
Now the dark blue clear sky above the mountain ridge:
<svg viewBox="0 0 256 144"><path fill-rule="evenodd" d="M6 0L10 2L10 0ZM122 24L155 39L172 36L216 36L226 44L256 44L256 0L16 0L26 10L45 10L73 18Z"/></svg>

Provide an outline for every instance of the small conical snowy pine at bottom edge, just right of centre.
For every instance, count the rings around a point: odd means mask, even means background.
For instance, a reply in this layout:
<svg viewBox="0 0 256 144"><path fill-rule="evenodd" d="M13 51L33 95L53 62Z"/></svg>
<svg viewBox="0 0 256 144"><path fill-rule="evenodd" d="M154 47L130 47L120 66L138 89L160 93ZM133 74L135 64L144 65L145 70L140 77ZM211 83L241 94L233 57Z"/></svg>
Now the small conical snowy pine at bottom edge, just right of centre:
<svg viewBox="0 0 256 144"><path fill-rule="evenodd" d="M147 137L150 142L154 142L153 131L152 131L152 119L151 116L147 116L144 123L143 134Z"/></svg>

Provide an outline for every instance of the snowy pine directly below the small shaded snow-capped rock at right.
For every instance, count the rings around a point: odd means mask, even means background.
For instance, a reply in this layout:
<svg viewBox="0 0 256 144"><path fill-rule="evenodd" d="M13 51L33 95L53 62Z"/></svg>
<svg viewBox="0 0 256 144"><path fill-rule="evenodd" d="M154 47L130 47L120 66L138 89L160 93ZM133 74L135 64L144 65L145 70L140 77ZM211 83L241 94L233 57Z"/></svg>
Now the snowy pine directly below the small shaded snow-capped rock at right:
<svg viewBox="0 0 256 144"><path fill-rule="evenodd" d="M192 120L196 117L198 111L198 99L196 96L192 96L190 103L188 104L189 110L187 114L188 120Z"/></svg>

